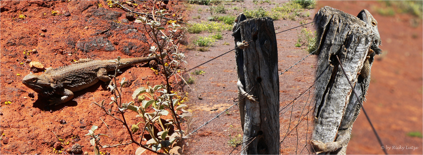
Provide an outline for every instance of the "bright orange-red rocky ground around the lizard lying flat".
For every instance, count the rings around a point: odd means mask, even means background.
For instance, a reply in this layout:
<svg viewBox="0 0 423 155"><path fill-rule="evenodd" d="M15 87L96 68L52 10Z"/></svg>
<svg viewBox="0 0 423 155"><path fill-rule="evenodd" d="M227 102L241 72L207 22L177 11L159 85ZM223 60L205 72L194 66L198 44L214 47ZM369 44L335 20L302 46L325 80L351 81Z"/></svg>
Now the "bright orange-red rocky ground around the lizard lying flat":
<svg viewBox="0 0 423 155"><path fill-rule="evenodd" d="M133 8L151 12L153 1L134 2ZM167 5L168 13L174 14L181 6L177 1ZM103 7L99 7L101 4ZM99 126L96 133L103 133L110 138L102 138L102 144L119 144L129 141L129 135L122 124L91 102L110 98L110 91L104 91L102 82L75 94L72 101L57 106L47 106L47 99L38 98L36 93L24 86L23 76L31 71L25 61L39 61L45 68L70 65L80 58L114 59L117 56L130 58L146 56L151 40L146 37L143 27L126 19L126 11L109 8L106 1L1 1L1 154L55 154L53 144L58 138L70 144L78 143L83 151L93 154L93 147L88 137L84 136L92 125ZM140 9L141 8L141 9ZM176 9L176 11L175 11ZM58 11L58 14L51 14ZM182 12L184 12L182 10ZM181 13L181 12L180 12ZM18 19L25 15L25 19ZM131 19L129 19L131 20ZM167 27L167 26L165 26ZM44 33L41 36L40 33ZM150 44L149 44L150 43ZM36 53L25 55L24 50L36 49ZM23 64L20 64L24 62ZM139 66L143 66L140 64ZM148 66L148 65L147 65ZM123 69L118 79L126 77L132 86L141 83L146 86L166 84L161 75L154 74L148 67L130 67ZM18 75L19 74L19 75ZM40 73L36 73L40 74ZM109 73L110 74L110 73ZM179 85L171 79L174 90ZM136 89L123 88L123 102L131 100ZM10 101L5 105L3 103ZM108 101L107 101L108 102ZM117 114L117 113L115 113ZM135 113L127 113L128 124L136 124L140 118ZM60 120L67 124L60 124ZM108 127L102 122L104 120ZM55 136L55 134L58 138ZM140 135L140 130L135 136ZM75 138L77 137L77 138ZM5 141L5 139L8 139ZM145 141L143 142L143 144ZM101 149L111 154L134 154L137 145L129 144L117 148ZM146 154L152 152L146 151Z"/></svg>

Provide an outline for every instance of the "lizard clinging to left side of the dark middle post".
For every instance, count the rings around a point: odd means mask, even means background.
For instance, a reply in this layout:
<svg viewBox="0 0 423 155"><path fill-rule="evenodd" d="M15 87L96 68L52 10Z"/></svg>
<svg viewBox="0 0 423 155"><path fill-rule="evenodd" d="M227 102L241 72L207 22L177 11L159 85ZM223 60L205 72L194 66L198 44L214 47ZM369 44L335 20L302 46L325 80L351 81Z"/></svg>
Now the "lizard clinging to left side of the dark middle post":
<svg viewBox="0 0 423 155"><path fill-rule="evenodd" d="M253 95L248 94L245 88L245 75L244 75L244 53L243 49L248 47L248 44L245 44L245 41L241 39L241 30L239 28L239 23L246 20L244 14L239 14L236 17L235 22L233 23L232 28L232 36L235 41L235 60L236 60L236 72L238 73L238 82L236 82L236 86L238 87L238 97L241 99L238 102L239 106L239 114L241 116L241 127L244 130L244 119L245 119L245 98L251 101L255 101Z"/></svg>

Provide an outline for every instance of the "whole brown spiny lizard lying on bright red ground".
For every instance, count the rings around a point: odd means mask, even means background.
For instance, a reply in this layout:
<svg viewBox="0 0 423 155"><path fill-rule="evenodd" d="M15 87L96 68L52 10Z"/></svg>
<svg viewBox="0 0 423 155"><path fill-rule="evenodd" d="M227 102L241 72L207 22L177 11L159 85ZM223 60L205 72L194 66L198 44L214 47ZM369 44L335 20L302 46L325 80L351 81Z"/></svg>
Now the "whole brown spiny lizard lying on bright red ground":
<svg viewBox="0 0 423 155"><path fill-rule="evenodd" d="M153 55L143 58L122 58L118 69L148 62L155 58L156 56ZM113 59L80 59L69 66L56 69L47 68L41 75L28 74L23 78L22 83L43 97L50 97L54 94L60 95L60 98L52 97L49 100L50 105L59 105L71 100L75 91L93 86L99 80L110 82L112 79L107 76L107 72L114 71L116 66L117 62Z"/></svg>

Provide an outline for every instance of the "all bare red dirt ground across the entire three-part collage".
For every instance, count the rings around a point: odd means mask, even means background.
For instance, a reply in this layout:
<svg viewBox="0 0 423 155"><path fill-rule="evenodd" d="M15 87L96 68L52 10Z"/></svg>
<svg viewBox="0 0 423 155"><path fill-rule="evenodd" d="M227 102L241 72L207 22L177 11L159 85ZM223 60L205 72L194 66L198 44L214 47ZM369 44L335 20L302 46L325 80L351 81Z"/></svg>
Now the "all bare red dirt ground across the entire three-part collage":
<svg viewBox="0 0 423 155"><path fill-rule="evenodd" d="M274 1L274 3L284 2L286 1ZM58 138L52 131L66 141L74 141L72 137L79 136L80 141L74 143L85 146L82 149L93 154L91 144L84 136L92 125L99 126L96 133L110 136L110 138L101 139L104 144L129 141L128 136L121 136L126 135L121 124L111 117L103 115L104 113L91 103L110 98L110 92L103 91L101 88L102 83L77 92L77 97L73 101L52 107L45 106L45 99L38 99L34 91L21 83L23 76L31 72L28 64L19 64L27 59L39 61L47 68L69 65L73 60L79 58L113 59L118 55L129 58L145 56L148 53L150 46L148 42L151 41L140 32L140 25L134 24L133 21L124 23L125 11L118 8L99 9L98 3L102 3L103 6L107 5L105 1L95 0L78 3L76 1L0 2L0 133L8 138L7 144L4 144L4 140L0 141L1 154L53 154L51 147L58 141ZM152 5L148 3L146 6ZM233 6L240 9L227 11L227 14L237 15L244 8L251 9L254 6L272 8L274 4L254 5L251 1L244 1L236 2ZM227 9L229 10L233 6L227 6ZM421 134L423 130L423 28L421 22L418 27L414 28L410 26L412 17L409 15L381 16L375 11L375 8L380 6L380 3L376 1L318 1L316 9L309 10L310 17L297 19L297 21L277 20L274 24L275 30L282 31L295 27L300 25L299 21L304 19L311 21L316 11L323 6L331 6L353 15L357 15L363 8L366 8L376 18L383 43L381 46L383 54L380 57L376 56L378 61L375 61L372 66L372 80L364 107L384 144L391 147L388 153L422 154L422 138L407 136L408 133L414 131ZM192 5L191 10L185 9L181 5L168 5L168 8L175 12L177 10L183 10L184 13L189 12L191 17L201 15L201 19L189 18L195 22L207 20L206 17L209 16L209 12L206 12L208 6ZM198 8L202 8L203 12L198 13ZM71 16L52 16L50 13L53 10L69 12ZM16 19L20 14L25 14L27 17L23 20ZM117 24L113 20L122 21L122 23ZM86 26L88 29L85 29ZM101 34L108 28L112 30ZM306 28L310 30L313 25L308 25ZM301 28L297 28L289 30L287 33L277 34L279 72L308 54L304 47L294 46L300 30ZM44 33L45 37L41 37L40 33ZM197 35L208 36L209 33L191 34L191 36ZM187 69L231 50L233 37L230 35L230 31L223 31L224 39L215 42L214 47L210 47L207 52L189 51L187 53L189 56ZM228 42L230 45L223 45L224 42ZM102 44L90 46L90 43ZM22 54L24 50L32 49L36 49L37 53ZM237 95L236 69L233 60L234 53L228 53L200 66L198 69L206 71L205 75L191 75L196 78L196 83L190 85L191 88L183 87L190 92L189 106L195 114L187 125L182 124L185 125L183 128L188 133L233 105L232 100ZM279 76L281 108L313 84L316 60L317 56L311 55ZM151 69L146 67L126 69L118 76L119 79L122 77L134 80L132 86L146 83L146 81L150 81L152 84L164 83L161 76L155 75ZM173 84L178 89L174 80ZM132 89L124 89L124 94L129 97L132 91ZM312 92L311 96L313 96ZM34 94L35 97L28 96L29 93ZM202 100L199 100L199 95ZM6 101L12 103L4 105L3 103ZM292 114L294 119L292 119L289 130L292 130L293 125L298 121L302 108L305 107L307 110L308 104L310 104L310 100L307 100L307 96L305 96L294 106ZM313 104L310 108L313 108ZM288 130L290 116L290 111L287 111L280 118L281 140ZM99 118L102 118L110 129L107 129ZM68 123L61 125L59 123L61 119ZM127 119L129 119L129 123L139 121L131 115ZM309 141L313 129L312 123L311 119L304 121L299 125L298 130L289 133L281 144L280 153L311 154L311 150L307 151L303 147ZM298 132L299 138L297 138L296 132ZM305 133L308 133L308 136L305 136ZM214 119L185 140L184 154L229 154L233 147L228 145L228 141L238 134L242 136L242 130L238 107L234 106L231 111ZM298 151L295 152L297 141L299 143ZM67 145L65 148L70 146ZM363 113L354 123L352 138L348 146L348 154L383 154ZM404 149L393 149L393 146L401 146ZM406 149L406 146L408 148L418 147L418 149ZM111 154L134 154L136 148L136 145L130 144L126 147L102 149L101 151ZM240 150L238 147L234 152L237 153Z"/></svg>

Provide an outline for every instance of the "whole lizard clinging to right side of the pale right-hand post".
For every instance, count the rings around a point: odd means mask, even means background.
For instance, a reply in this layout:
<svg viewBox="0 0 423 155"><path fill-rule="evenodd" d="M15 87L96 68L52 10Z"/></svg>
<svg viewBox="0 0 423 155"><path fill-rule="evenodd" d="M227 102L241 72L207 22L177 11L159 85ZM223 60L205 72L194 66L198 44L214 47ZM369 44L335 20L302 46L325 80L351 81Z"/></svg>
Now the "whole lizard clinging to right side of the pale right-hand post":
<svg viewBox="0 0 423 155"><path fill-rule="evenodd" d="M370 49L366 55L363 68L361 68L360 71L360 76L357 78L357 84L354 86L354 91L357 93L359 99L357 99L354 93L351 94L341 125L338 128L335 141L328 143L314 140L310 141L316 150L316 153L330 152L330 154L346 154L346 147L349 139L351 138L352 124L355 122L355 119L360 113L361 105L359 100L363 101L365 99L365 94L370 84L370 71L374 61L374 56L382 53L382 50L379 48L382 41L379 36L379 30L377 29L376 19L374 19L374 17L366 9L363 9L357 17L373 28L376 35L374 38L375 40L370 45ZM344 48L344 50L346 49Z"/></svg>

